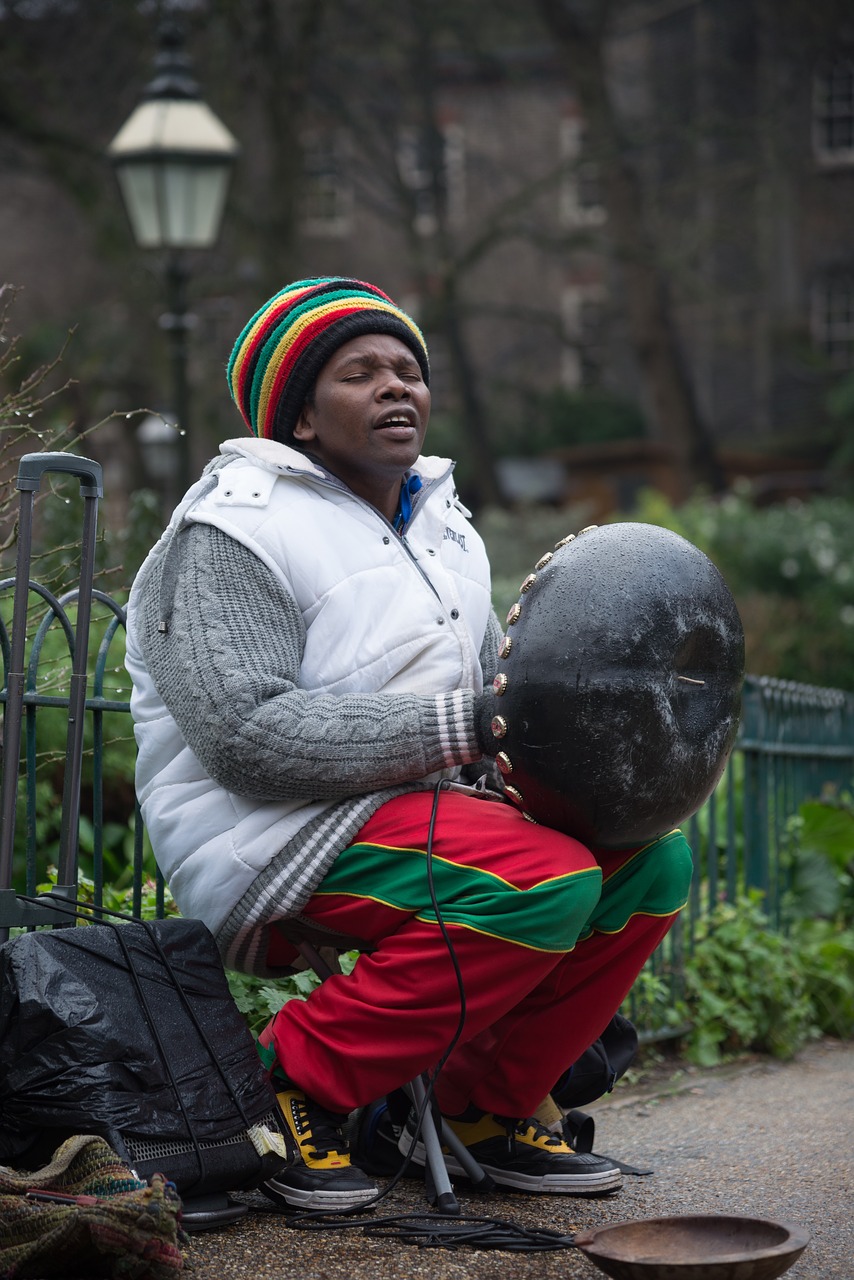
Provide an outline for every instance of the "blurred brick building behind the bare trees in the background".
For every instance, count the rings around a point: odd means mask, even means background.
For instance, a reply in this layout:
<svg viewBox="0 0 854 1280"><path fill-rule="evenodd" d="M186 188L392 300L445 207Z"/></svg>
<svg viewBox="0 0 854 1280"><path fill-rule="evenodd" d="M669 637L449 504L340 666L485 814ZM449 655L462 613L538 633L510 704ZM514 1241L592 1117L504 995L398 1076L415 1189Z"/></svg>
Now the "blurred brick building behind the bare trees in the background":
<svg viewBox="0 0 854 1280"><path fill-rule="evenodd" d="M755 477L767 498L812 492L839 443L828 389L854 370L854 35L810 24L794 0L613 8L608 83L640 178L636 251L667 292L699 420L727 480ZM210 6L211 33L215 18ZM230 104L218 102L243 154L223 243L193 278L195 461L239 431L223 370L247 316L284 283L284 261L289 278L370 279L423 320L434 444L467 447L470 474L492 466L507 498L540 481L549 502L575 500L581 486L603 508L650 483L677 494L627 323L626 252L613 252L603 196L613 155L593 145L560 50L540 28L490 58L446 50L425 92L410 86L407 97L401 67L385 90L384 68L366 69L355 40L347 69L347 35L309 78L294 125L302 175L288 170L298 209L287 255L274 252L287 237L269 177L282 131L246 92L248 73ZM225 92L197 37L200 79ZM333 86L344 73L351 82ZM371 116L359 92L374 81L388 102L378 91ZM99 115L106 145L122 110L100 105ZM93 218L46 164L0 148L0 282L23 285L28 329L77 324L76 342L91 343L78 375L90 422L115 406L169 407L160 276L129 241L129 266L117 269L115 232L114 256L104 255L110 202L120 218L104 170ZM118 458L128 429L111 431ZM563 468L563 489L554 465L513 468L513 457L540 456Z"/></svg>

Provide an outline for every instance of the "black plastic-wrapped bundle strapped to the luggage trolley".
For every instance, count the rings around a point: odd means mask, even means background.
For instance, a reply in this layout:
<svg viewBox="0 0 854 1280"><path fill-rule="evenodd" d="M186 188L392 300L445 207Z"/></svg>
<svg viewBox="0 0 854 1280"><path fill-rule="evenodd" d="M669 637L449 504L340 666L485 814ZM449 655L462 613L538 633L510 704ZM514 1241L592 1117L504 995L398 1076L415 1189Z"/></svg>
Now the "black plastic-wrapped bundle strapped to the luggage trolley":
<svg viewBox="0 0 854 1280"><path fill-rule="evenodd" d="M37 1167L74 1133L196 1196L287 1164L275 1093L201 922L0 947L0 1162Z"/></svg>

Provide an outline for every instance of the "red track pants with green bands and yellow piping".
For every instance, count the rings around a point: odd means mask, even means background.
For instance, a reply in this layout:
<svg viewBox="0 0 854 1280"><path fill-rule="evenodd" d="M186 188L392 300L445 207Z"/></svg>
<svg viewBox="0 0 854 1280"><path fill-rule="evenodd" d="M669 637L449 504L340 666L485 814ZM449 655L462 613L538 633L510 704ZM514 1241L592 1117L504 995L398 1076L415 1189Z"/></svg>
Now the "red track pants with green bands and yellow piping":
<svg viewBox="0 0 854 1280"><path fill-rule="evenodd" d="M433 1069L457 1032L458 982L428 887L431 806L429 792L383 805L302 911L371 948L273 1024L287 1074L332 1111ZM444 791L431 874L465 991L439 1105L528 1116L602 1033L685 905L691 852L679 831L592 850L508 804ZM270 960L293 955L282 940Z"/></svg>

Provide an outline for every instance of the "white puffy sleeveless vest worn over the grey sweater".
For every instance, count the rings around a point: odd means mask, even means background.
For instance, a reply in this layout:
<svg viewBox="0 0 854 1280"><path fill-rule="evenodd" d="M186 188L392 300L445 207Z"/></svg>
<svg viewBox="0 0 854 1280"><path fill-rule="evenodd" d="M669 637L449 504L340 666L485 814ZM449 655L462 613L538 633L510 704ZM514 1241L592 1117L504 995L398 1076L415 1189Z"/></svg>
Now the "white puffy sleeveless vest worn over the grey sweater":
<svg viewBox="0 0 854 1280"><path fill-rule="evenodd" d="M306 627L301 685L326 694L481 689L489 567L456 499L451 467L419 458L424 489L401 539L303 454L229 440L219 484L193 486L173 516L210 524L259 556ZM140 572L140 580L146 566ZM247 626L251 626L247 602ZM219 787L160 700L128 608L127 667L138 746L137 794L160 868L184 915L216 933L268 863L333 801L262 804ZM311 886L314 888L314 886Z"/></svg>

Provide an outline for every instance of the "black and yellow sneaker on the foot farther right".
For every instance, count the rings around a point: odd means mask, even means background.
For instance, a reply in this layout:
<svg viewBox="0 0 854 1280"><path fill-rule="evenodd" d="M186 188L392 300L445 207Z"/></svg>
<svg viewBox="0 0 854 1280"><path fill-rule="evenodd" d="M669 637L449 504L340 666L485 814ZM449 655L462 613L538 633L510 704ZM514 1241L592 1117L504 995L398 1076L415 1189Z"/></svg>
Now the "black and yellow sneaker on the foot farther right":
<svg viewBox="0 0 854 1280"><path fill-rule="evenodd" d="M600 1196L622 1185L622 1174L612 1160L572 1151L560 1134L551 1133L534 1117L511 1120L475 1107L470 1114L471 1119L466 1115L448 1124L499 1187L560 1196ZM412 1132L410 1117L399 1140L403 1153L410 1149ZM424 1143L419 1139L412 1160L424 1165L425 1158ZM465 1176L462 1165L447 1153L447 1148L446 1165L449 1174Z"/></svg>

